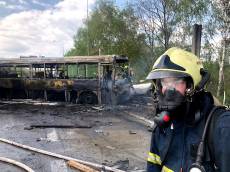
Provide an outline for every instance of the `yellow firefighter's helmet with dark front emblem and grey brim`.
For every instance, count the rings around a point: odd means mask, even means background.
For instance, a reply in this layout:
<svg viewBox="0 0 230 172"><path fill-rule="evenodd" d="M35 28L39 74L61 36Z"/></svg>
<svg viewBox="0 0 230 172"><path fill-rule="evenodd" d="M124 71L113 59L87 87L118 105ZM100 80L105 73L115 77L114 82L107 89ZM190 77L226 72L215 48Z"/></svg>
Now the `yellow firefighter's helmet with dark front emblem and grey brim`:
<svg viewBox="0 0 230 172"><path fill-rule="evenodd" d="M196 55L173 47L156 60L146 79L191 77L194 89L202 80L202 69L203 65Z"/></svg>

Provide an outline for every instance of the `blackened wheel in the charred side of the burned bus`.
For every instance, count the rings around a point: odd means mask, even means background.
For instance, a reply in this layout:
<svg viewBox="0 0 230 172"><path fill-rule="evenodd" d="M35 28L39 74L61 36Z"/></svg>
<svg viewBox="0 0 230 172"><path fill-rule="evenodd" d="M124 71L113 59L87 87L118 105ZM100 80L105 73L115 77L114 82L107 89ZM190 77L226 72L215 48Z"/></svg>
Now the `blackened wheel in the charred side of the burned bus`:
<svg viewBox="0 0 230 172"><path fill-rule="evenodd" d="M97 104L97 95L90 91L83 92L80 94L78 102L81 104Z"/></svg>

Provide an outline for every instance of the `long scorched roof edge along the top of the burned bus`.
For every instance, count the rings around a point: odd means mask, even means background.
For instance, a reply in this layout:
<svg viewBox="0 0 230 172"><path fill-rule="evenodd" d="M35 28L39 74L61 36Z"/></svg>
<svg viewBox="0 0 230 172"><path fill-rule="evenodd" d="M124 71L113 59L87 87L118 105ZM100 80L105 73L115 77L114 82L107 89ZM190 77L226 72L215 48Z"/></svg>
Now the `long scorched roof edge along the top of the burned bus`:
<svg viewBox="0 0 230 172"><path fill-rule="evenodd" d="M68 57L21 57L14 59L1 59L0 64L44 64L44 63L124 63L127 56L101 55L101 56L68 56Z"/></svg>

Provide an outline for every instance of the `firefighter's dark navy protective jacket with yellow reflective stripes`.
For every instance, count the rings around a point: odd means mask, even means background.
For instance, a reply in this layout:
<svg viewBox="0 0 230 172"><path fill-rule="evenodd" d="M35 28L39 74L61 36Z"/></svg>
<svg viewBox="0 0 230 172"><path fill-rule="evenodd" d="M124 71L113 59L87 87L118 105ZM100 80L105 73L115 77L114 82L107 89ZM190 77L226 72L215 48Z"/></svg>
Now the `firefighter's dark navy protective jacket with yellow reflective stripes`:
<svg viewBox="0 0 230 172"><path fill-rule="evenodd" d="M211 94L202 93L197 99L193 124L186 120L174 120L167 128L156 129L152 133L151 147L147 161L147 172L188 172L195 162L196 151L201 140L205 122L213 107ZM213 149L206 144L203 166L206 172L230 171L230 111L220 114L213 129ZM214 156L214 157L213 157ZM215 160L213 160L215 159ZM217 167L217 168L216 168Z"/></svg>

